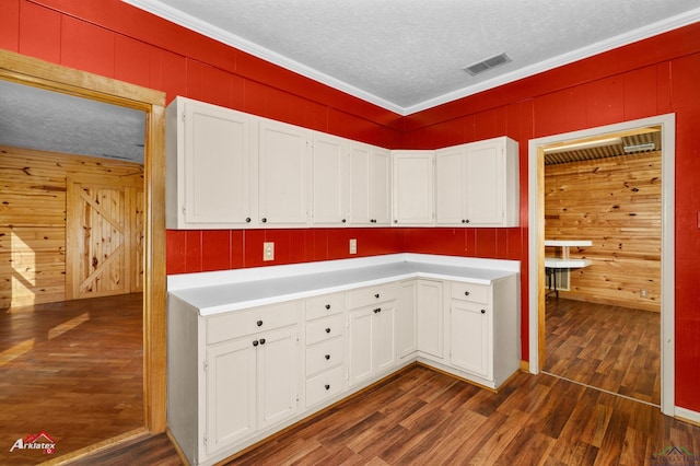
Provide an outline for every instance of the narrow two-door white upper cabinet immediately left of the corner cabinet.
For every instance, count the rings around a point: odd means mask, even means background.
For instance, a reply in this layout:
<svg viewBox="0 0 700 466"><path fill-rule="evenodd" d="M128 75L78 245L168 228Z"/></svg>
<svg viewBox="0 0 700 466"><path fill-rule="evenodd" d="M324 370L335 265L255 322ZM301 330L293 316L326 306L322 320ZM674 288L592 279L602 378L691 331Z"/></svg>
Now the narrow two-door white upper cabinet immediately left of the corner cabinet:
<svg viewBox="0 0 700 466"><path fill-rule="evenodd" d="M390 222L390 152L350 143L349 221L352 225L388 225Z"/></svg>

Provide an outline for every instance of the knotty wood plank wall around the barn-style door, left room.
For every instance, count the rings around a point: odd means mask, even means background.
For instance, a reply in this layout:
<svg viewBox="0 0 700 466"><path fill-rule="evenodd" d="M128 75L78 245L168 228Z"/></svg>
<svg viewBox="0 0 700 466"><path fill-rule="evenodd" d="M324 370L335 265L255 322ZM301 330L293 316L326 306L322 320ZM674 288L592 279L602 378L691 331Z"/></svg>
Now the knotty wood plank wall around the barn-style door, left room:
<svg viewBox="0 0 700 466"><path fill-rule="evenodd" d="M73 176L142 185L143 166L0 147L0 308L66 300L66 191Z"/></svg>

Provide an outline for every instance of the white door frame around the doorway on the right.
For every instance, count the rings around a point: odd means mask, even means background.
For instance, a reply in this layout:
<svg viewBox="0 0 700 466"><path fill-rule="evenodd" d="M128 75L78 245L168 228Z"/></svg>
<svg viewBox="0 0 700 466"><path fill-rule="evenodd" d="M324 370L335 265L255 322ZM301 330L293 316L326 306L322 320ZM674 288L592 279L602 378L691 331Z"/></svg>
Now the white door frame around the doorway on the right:
<svg viewBox="0 0 700 466"><path fill-rule="evenodd" d="M532 139L528 144L528 304L529 304L529 372L537 374L539 366L539 306L544 295L539 295L540 280L545 265L539 264L540 248L544 248L544 199L538 198L538 184L544 186L544 170L539 166L541 148L556 142L606 133L628 131L648 126L662 128L662 269L661 269L661 410L667 416L675 415L675 159L676 159L676 115L666 114L615 125L590 128L562 135ZM540 224L541 223L541 224ZM544 289L544 283L541 283ZM541 303L540 303L541 301Z"/></svg>

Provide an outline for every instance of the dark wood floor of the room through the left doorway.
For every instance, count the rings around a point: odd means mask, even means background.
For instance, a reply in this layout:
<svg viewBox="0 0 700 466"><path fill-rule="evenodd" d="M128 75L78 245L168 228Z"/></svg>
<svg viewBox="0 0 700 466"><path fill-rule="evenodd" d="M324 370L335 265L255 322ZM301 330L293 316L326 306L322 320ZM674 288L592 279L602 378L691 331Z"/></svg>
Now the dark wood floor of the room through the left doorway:
<svg viewBox="0 0 700 466"><path fill-rule="evenodd" d="M143 426L142 296L0 313L0 464L36 464ZM54 455L15 450L46 432Z"/></svg>

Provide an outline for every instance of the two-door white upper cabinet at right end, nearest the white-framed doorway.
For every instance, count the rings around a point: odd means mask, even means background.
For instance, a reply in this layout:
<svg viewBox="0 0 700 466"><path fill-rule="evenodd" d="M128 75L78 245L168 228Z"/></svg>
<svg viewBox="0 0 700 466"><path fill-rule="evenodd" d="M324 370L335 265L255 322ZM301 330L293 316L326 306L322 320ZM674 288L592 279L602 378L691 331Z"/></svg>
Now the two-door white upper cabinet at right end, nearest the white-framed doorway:
<svg viewBox="0 0 700 466"><path fill-rule="evenodd" d="M438 225L517 226L517 142L495 138L435 152Z"/></svg>

